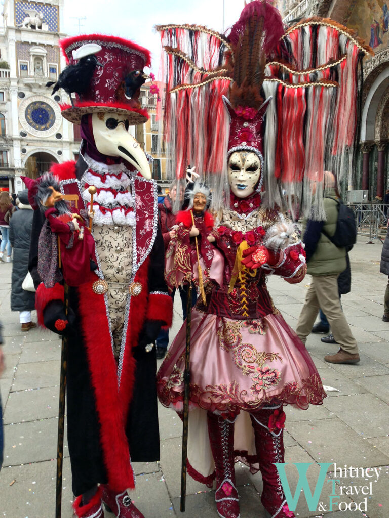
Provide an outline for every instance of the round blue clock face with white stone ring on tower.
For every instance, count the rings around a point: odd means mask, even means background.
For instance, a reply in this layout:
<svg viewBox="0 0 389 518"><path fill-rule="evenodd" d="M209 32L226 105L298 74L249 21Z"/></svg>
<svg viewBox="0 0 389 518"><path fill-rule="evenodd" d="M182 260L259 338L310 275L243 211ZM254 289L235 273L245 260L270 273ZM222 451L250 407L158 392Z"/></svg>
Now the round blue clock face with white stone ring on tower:
<svg viewBox="0 0 389 518"><path fill-rule="evenodd" d="M52 137L62 124L58 104L43 95L24 98L19 104L18 112L23 130L34 137Z"/></svg>

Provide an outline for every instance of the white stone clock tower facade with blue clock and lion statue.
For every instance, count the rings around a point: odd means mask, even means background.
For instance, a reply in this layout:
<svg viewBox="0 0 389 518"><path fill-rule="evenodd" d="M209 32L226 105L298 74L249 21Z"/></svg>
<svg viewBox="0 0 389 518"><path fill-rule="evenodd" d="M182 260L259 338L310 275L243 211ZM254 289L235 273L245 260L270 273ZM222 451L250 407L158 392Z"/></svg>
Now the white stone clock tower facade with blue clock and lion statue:
<svg viewBox="0 0 389 518"><path fill-rule="evenodd" d="M65 66L58 41L63 0L5 0L0 27L0 190L24 189L20 176L36 178L51 163L78 153L73 125L61 116L62 90L51 95Z"/></svg>

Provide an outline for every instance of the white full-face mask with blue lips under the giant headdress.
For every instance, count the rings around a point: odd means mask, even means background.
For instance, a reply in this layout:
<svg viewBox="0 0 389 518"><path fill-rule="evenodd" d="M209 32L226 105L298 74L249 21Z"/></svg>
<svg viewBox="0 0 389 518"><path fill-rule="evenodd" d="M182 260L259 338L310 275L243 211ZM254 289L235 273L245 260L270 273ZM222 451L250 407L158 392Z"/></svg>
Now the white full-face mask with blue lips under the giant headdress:
<svg viewBox="0 0 389 518"><path fill-rule="evenodd" d="M261 176L261 162L253 152L235 151L228 160L228 182L238 198L253 194Z"/></svg>

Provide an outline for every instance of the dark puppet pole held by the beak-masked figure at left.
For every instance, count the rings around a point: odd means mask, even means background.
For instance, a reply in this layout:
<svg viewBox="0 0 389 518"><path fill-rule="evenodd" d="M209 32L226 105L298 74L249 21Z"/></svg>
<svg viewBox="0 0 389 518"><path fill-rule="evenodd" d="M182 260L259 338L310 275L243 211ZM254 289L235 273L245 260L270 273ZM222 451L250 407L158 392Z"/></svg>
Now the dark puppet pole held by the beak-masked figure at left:
<svg viewBox="0 0 389 518"><path fill-rule="evenodd" d="M64 306L67 317L69 301L69 286L64 284ZM61 375L60 375L60 402L58 407L58 441L57 441L57 486L55 490L55 518L61 518L62 505L62 465L63 465L63 436L65 426L65 389L67 363L67 336L62 335L61 347Z"/></svg>

